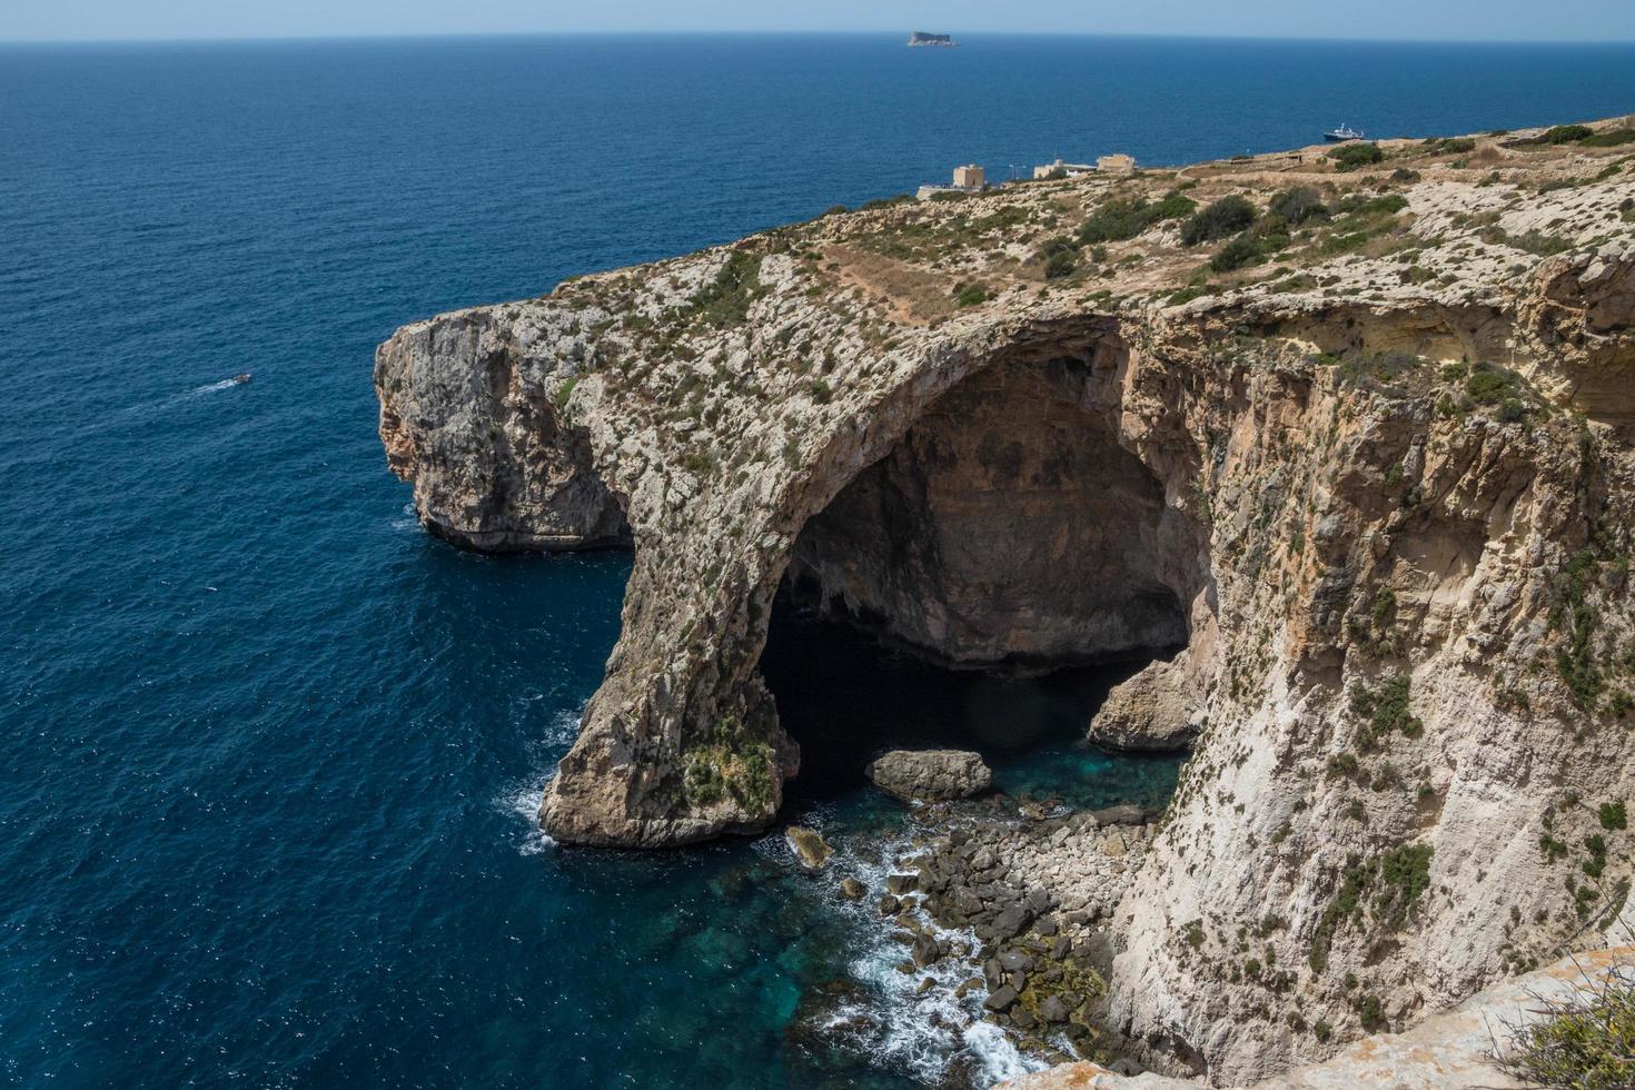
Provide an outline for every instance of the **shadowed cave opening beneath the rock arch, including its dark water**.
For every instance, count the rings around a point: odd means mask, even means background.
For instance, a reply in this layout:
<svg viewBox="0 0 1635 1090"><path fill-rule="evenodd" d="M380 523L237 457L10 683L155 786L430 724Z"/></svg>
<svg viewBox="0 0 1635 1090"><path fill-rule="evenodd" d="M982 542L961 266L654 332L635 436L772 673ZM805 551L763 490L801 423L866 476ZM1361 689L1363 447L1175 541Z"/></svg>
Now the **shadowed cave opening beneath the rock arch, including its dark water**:
<svg viewBox="0 0 1635 1090"><path fill-rule="evenodd" d="M1081 740L1107 691L1189 637L1198 536L1117 441L1105 368L955 386L803 528L762 654L822 799L885 748L991 765Z"/></svg>

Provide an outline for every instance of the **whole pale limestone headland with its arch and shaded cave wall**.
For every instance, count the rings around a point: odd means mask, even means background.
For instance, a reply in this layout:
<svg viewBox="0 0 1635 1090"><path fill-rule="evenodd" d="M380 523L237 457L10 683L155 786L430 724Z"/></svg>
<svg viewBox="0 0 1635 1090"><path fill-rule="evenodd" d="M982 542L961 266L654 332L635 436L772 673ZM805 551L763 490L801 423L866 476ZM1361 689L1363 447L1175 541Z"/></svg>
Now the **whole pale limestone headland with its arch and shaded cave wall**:
<svg viewBox="0 0 1635 1090"><path fill-rule="evenodd" d="M893 204L399 330L381 435L428 529L634 547L546 829L770 824L788 579L955 665L1184 644L1105 713L1200 730L1109 1018L1213 1079L1602 927L1630 874L1635 173L1512 144ZM1328 211L1228 243L1264 263L1182 245L1189 201L1301 188Z"/></svg>

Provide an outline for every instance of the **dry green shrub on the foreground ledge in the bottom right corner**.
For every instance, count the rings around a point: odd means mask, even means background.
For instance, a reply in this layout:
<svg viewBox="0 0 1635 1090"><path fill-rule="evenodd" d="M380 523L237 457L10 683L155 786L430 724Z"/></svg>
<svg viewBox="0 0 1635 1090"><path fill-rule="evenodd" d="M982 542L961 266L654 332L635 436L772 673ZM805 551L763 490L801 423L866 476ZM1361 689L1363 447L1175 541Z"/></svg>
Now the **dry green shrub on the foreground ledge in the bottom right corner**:
<svg viewBox="0 0 1635 1090"><path fill-rule="evenodd" d="M1529 1087L1622 1090L1635 1085L1635 974L1614 966L1566 998L1535 995L1543 1020L1517 1026L1499 1067Z"/></svg>

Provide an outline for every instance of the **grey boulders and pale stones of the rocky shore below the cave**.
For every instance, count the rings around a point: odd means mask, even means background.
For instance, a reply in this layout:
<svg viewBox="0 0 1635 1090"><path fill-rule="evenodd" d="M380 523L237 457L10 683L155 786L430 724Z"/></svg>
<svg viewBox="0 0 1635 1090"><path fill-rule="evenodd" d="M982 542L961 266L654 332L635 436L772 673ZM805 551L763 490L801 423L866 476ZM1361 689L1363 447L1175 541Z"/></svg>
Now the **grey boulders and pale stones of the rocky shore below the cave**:
<svg viewBox="0 0 1635 1090"><path fill-rule="evenodd" d="M922 807L911 840L867 848L883 853L878 887L845 876L837 891L881 917L903 948L894 971L917 997L942 989L953 1000L979 1000L971 1020L997 1026L1046 1064L1094 1059L1133 1074L1144 1070L1135 1057L1146 1052L1109 1028L1104 1000L1113 910L1156 819L1158 811L1133 804L1064 812L1002 796ZM827 845L811 848L814 837L788 835L808 873L821 873L832 855ZM814 866L814 858L822 861ZM840 1005L850 992L834 984L824 995ZM806 1033L837 1043L858 1030L822 1002L804 1018Z"/></svg>

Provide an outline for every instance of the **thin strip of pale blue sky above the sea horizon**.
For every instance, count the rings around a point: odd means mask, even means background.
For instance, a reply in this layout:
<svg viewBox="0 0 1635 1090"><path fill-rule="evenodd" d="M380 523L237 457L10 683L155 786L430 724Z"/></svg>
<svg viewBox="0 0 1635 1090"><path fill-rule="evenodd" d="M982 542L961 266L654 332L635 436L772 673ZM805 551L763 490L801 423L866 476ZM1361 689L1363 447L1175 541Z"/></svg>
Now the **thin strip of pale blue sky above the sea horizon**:
<svg viewBox="0 0 1635 1090"><path fill-rule="evenodd" d="M1632 41L1635 0L5 0L0 39L551 31L1019 31Z"/></svg>

